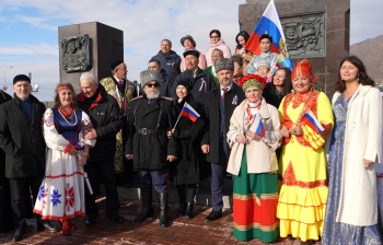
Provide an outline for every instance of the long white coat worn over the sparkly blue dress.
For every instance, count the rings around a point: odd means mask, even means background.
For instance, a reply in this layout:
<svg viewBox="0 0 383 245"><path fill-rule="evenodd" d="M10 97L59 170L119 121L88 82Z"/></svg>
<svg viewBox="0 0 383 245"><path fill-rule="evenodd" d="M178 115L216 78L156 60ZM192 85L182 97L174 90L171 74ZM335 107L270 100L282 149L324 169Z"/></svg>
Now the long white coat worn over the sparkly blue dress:
<svg viewBox="0 0 383 245"><path fill-rule="evenodd" d="M333 105L339 96L334 94ZM348 104L337 222L378 223L375 171L364 168L363 159L382 162L382 97L369 85L359 85Z"/></svg>

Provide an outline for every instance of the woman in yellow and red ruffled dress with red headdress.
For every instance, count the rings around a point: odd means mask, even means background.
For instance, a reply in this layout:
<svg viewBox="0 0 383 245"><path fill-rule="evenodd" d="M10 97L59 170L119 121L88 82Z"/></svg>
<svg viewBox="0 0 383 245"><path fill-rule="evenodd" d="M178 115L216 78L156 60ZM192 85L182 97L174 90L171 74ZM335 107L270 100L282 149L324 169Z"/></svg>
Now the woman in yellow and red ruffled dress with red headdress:
<svg viewBox="0 0 383 245"><path fill-rule="evenodd" d="M294 92L279 106L282 152L277 217L280 236L292 235L311 243L322 235L327 184L324 143L333 127L332 106L326 94L312 90L313 70L309 60L294 66Z"/></svg>

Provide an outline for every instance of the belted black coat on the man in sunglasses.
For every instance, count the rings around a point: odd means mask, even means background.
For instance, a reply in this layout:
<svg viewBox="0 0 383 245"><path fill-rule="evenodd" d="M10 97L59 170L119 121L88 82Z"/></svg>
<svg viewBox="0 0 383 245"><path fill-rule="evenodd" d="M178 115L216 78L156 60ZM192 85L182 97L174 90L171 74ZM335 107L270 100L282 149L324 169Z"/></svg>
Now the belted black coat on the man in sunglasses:
<svg viewBox="0 0 383 245"><path fill-rule="evenodd" d="M173 138L167 139L166 130L171 130L174 122L175 113L171 98L148 101L143 95L131 101L125 154L134 154L135 168L154 171L169 167L166 156L176 155L176 144ZM147 135L139 132L142 128L148 130Z"/></svg>

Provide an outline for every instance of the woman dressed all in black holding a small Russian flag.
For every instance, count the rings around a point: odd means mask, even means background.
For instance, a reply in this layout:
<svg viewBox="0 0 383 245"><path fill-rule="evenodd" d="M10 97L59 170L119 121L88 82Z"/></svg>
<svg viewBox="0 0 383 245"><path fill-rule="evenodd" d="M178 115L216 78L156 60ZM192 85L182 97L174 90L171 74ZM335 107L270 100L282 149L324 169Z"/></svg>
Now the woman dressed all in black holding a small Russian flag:
<svg viewBox="0 0 383 245"><path fill-rule="evenodd" d="M177 187L179 215L187 220L194 217L194 197L199 183L199 163L202 155L200 139L204 130L202 108L194 101L190 91L193 81L182 79L176 86L177 100L174 101L178 116L173 137L178 141L177 161L171 165L170 178Z"/></svg>

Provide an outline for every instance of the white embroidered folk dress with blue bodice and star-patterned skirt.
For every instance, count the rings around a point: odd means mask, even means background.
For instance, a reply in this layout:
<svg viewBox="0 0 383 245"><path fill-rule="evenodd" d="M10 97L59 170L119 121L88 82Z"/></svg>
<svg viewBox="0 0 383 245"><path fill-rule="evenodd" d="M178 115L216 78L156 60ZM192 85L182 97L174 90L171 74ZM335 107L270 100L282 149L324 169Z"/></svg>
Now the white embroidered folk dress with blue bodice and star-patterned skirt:
<svg viewBox="0 0 383 245"><path fill-rule="evenodd" d="M47 144L46 170L34 212L43 219L72 219L85 215L83 168L76 155L66 153L72 145L94 145L83 135L93 128L89 116L74 109L66 119L56 108L44 114L44 138Z"/></svg>

